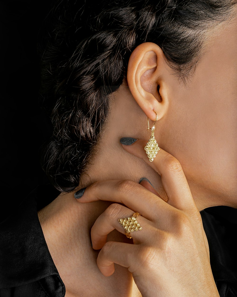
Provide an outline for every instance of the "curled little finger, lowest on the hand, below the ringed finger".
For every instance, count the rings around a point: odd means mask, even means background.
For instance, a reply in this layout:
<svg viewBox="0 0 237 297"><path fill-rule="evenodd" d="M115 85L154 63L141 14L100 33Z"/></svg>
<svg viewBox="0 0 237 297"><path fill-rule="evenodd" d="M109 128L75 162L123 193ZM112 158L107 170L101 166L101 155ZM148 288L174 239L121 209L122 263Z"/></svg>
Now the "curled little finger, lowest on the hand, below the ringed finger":
<svg viewBox="0 0 237 297"><path fill-rule="evenodd" d="M97 265L106 277L114 273L114 263L128 267L132 272L135 270L134 263L137 263L135 257L138 253L139 245L137 244L108 241L98 254Z"/></svg>

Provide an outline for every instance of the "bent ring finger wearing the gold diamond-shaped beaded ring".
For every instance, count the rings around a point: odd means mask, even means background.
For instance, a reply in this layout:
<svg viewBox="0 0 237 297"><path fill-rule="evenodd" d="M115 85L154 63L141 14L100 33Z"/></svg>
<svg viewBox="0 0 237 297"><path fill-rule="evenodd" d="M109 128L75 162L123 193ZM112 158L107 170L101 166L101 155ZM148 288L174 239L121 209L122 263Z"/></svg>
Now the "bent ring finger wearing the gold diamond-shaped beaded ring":
<svg viewBox="0 0 237 297"><path fill-rule="evenodd" d="M114 229L120 233L126 234L128 225L125 224L125 228L119 223L119 219L131 217L133 211L121 204L111 204L95 221L91 228L91 241L93 249L101 249L106 243L107 235ZM133 227L134 226L134 227ZM130 236L135 244L148 241L152 236L153 226L150 222L142 217L137 216L135 221L131 221L129 228L134 231L130 231ZM133 228L132 228L133 227ZM142 228L142 230L139 230Z"/></svg>

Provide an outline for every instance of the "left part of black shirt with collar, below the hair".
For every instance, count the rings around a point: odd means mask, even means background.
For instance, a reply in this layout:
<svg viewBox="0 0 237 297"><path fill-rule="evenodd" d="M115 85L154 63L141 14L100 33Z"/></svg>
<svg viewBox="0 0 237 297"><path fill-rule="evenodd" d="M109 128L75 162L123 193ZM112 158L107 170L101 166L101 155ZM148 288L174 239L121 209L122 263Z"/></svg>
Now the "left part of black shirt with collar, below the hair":
<svg viewBox="0 0 237 297"><path fill-rule="evenodd" d="M39 222L37 193L38 187L0 223L0 296L65 296Z"/></svg>

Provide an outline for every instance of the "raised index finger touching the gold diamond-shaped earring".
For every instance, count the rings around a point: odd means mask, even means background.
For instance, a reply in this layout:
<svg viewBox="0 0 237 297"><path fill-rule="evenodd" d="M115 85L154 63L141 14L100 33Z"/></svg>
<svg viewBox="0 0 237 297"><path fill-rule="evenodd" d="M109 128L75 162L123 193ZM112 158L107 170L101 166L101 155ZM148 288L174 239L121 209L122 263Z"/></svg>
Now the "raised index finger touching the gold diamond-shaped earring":
<svg viewBox="0 0 237 297"><path fill-rule="evenodd" d="M121 146L130 154L143 159L161 176L168 204L181 210L197 210L180 162L161 148L150 162L144 149L146 144L147 141L138 139L132 145L121 144Z"/></svg>

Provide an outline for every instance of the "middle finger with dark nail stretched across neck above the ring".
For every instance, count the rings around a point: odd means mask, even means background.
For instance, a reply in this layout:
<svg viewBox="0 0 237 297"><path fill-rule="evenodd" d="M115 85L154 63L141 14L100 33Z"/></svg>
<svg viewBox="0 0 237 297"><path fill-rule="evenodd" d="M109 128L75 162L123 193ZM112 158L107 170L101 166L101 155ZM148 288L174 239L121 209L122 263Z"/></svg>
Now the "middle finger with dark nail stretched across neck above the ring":
<svg viewBox="0 0 237 297"><path fill-rule="evenodd" d="M135 181L125 180L102 180L90 184L84 191L79 202L92 202L97 200L123 203L133 212L139 212L150 221L157 217L163 217L165 211L171 206L157 195Z"/></svg>

